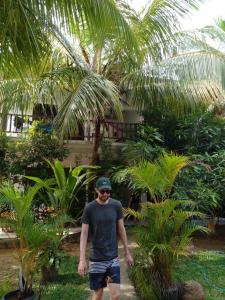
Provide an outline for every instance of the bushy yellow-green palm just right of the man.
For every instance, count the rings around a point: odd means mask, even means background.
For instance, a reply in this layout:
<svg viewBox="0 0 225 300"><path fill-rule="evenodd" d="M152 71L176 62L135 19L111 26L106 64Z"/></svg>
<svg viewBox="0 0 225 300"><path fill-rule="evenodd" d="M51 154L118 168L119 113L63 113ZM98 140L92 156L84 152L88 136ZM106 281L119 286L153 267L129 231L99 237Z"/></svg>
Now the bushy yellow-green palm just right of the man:
<svg viewBox="0 0 225 300"><path fill-rule="evenodd" d="M133 215L141 221L137 227L137 262L142 270L139 280L147 280L148 271L153 290L155 287L155 290L161 288L165 291L172 286L174 264L185 253L191 235L198 230L206 231L192 221L193 216L203 215L188 210L191 201L169 198L174 181L187 161L185 156L164 153L155 163L142 161L122 171L122 176L129 175L131 187L151 196L152 202L142 204L140 212L129 208L124 212L126 216ZM141 274L145 274L145 279Z"/></svg>

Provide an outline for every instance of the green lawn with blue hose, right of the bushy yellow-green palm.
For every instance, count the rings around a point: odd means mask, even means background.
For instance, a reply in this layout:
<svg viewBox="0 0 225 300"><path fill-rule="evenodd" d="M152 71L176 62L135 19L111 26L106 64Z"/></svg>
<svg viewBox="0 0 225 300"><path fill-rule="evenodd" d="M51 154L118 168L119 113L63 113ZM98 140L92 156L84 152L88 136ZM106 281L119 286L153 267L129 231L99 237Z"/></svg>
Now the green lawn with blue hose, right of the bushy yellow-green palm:
<svg viewBox="0 0 225 300"><path fill-rule="evenodd" d="M225 253L200 251L180 259L175 268L174 279L196 280L204 287L207 300L224 300Z"/></svg>

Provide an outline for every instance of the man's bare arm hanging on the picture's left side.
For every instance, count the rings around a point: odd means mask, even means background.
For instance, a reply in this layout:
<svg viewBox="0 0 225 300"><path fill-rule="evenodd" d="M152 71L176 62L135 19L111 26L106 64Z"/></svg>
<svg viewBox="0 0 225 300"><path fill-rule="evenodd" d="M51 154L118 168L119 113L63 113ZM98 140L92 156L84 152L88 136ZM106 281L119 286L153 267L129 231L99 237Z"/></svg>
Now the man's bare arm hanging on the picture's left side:
<svg viewBox="0 0 225 300"><path fill-rule="evenodd" d="M87 271L86 263L86 247L88 239L89 224L82 224L81 236L80 236L80 262L78 265L78 273L80 276L84 276Z"/></svg>

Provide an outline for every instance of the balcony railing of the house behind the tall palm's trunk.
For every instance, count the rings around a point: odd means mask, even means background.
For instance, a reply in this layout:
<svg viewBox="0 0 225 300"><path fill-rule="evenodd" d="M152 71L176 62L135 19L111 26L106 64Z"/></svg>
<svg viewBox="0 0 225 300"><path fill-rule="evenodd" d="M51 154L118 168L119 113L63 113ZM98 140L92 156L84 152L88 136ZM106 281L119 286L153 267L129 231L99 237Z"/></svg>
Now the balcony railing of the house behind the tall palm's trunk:
<svg viewBox="0 0 225 300"><path fill-rule="evenodd" d="M21 133L27 133L31 128L34 119L32 115L8 114L2 117L0 114L0 124L4 128L3 131L9 136L17 137ZM51 131L52 120L46 124L40 125L45 131ZM125 123L117 121L103 121L101 123L101 136L105 139L114 140L116 142L124 142L135 138L137 135L138 123ZM95 136L94 122L88 121L84 125L79 125L78 133L67 138L68 140L86 140L92 141Z"/></svg>

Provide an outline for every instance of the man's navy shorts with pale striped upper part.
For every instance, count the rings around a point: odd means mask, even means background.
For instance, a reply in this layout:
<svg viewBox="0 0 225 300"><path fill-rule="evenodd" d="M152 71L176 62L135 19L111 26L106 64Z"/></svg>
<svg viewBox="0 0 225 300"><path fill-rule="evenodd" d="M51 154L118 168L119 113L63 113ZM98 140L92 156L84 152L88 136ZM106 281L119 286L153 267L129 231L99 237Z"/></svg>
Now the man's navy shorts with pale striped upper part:
<svg viewBox="0 0 225 300"><path fill-rule="evenodd" d="M120 263L116 257L107 261L89 262L90 289L97 290L107 286L107 283L120 284Z"/></svg>

